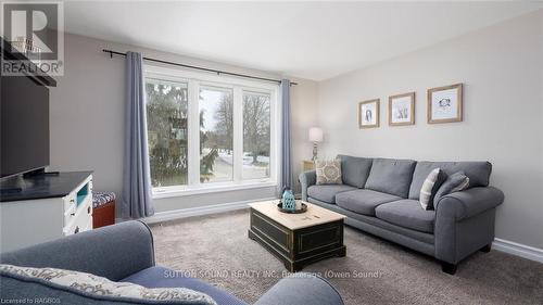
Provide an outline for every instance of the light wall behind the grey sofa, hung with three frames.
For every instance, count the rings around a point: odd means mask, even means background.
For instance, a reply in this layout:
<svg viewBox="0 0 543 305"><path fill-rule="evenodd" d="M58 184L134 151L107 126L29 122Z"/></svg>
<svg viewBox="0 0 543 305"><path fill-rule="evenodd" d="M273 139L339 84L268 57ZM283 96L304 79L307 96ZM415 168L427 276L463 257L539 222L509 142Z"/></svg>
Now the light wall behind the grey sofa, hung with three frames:
<svg viewBox="0 0 543 305"><path fill-rule="evenodd" d="M505 192L496 237L543 249L543 10L318 84L326 155L488 160ZM426 90L464 82L465 119L428 125ZM388 126L388 97L416 91L416 125ZM357 103L381 99L381 127Z"/></svg>

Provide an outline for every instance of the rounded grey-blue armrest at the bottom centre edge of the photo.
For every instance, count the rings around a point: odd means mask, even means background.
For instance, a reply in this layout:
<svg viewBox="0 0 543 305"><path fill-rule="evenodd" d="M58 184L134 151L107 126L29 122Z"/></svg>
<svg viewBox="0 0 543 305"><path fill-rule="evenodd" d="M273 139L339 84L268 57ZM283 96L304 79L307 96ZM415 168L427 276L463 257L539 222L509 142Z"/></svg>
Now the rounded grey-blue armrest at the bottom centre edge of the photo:
<svg viewBox="0 0 543 305"><path fill-rule="evenodd" d="M254 305L342 305L338 291L321 277L298 272L281 279Z"/></svg>

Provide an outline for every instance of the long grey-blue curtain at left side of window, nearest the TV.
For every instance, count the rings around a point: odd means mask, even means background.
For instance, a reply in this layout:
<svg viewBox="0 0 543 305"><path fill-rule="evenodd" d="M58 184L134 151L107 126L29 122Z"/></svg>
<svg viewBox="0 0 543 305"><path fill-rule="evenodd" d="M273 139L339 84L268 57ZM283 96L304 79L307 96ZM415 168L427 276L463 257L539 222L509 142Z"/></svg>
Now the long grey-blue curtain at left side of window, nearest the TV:
<svg viewBox="0 0 543 305"><path fill-rule="evenodd" d="M140 53L126 54L125 164L122 196L123 218L154 214L147 142L146 87Z"/></svg>

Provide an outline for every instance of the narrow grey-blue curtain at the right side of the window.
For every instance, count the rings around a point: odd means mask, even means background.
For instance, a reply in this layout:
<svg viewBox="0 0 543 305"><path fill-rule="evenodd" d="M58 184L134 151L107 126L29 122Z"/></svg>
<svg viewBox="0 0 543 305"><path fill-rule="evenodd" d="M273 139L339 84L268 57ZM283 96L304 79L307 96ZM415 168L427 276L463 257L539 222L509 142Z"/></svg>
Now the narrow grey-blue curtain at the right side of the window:
<svg viewBox="0 0 543 305"><path fill-rule="evenodd" d="M281 151L280 163L281 170L279 173L279 195L286 189L293 190L293 174L292 174L292 151L291 151L291 137L290 137L290 80L283 79L280 85L281 91Z"/></svg>

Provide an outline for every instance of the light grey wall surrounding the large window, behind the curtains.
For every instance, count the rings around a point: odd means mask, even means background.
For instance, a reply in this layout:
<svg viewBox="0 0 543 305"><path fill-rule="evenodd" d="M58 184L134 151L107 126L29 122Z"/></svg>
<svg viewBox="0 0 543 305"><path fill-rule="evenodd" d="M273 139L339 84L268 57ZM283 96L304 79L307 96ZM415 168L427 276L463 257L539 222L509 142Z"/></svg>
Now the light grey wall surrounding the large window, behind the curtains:
<svg viewBox="0 0 543 305"><path fill-rule="evenodd" d="M276 74L66 34L65 74L56 78L58 87L52 88L50 93L50 169L94 170L94 189L115 191L117 195L121 195L123 183L125 62L119 56L110 59L102 49L140 51L146 56L166 61L280 78ZM310 109L314 111L312 114L310 112L312 119L316 120L316 110L307 105L316 101L316 84L304 79L295 81L300 85L292 87L293 115L298 117L299 112ZM293 124L295 139L302 134L296 128L311 125L310 118L304 118L303 115L301 117ZM310 144L294 141L294 156L301 157L307 145ZM156 212L164 212L274 195L275 188L268 187L156 199L154 204Z"/></svg>

